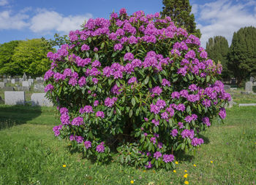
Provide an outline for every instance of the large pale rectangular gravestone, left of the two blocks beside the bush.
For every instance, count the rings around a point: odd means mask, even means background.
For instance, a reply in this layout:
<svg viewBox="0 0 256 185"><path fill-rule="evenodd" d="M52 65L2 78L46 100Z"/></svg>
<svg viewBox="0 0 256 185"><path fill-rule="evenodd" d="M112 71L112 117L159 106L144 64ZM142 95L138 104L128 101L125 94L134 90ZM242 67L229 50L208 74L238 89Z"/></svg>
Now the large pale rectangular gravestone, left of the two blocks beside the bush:
<svg viewBox="0 0 256 185"><path fill-rule="evenodd" d="M25 104L25 92L24 91L5 91L4 92L5 105L15 106Z"/></svg>

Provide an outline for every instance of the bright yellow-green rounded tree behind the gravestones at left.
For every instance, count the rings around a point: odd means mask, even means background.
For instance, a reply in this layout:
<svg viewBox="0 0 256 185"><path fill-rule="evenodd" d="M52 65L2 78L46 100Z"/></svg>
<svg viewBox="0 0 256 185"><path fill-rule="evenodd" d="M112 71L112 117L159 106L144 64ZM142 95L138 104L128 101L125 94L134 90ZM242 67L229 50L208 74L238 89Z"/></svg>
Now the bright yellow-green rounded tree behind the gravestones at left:
<svg viewBox="0 0 256 185"><path fill-rule="evenodd" d="M39 76L45 74L50 67L50 60L47 58L49 51L53 51L49 47L47 41L42 39L31 39L19 42L12 55L12 60L20 67L21 73L31 76Z"/></svg>

